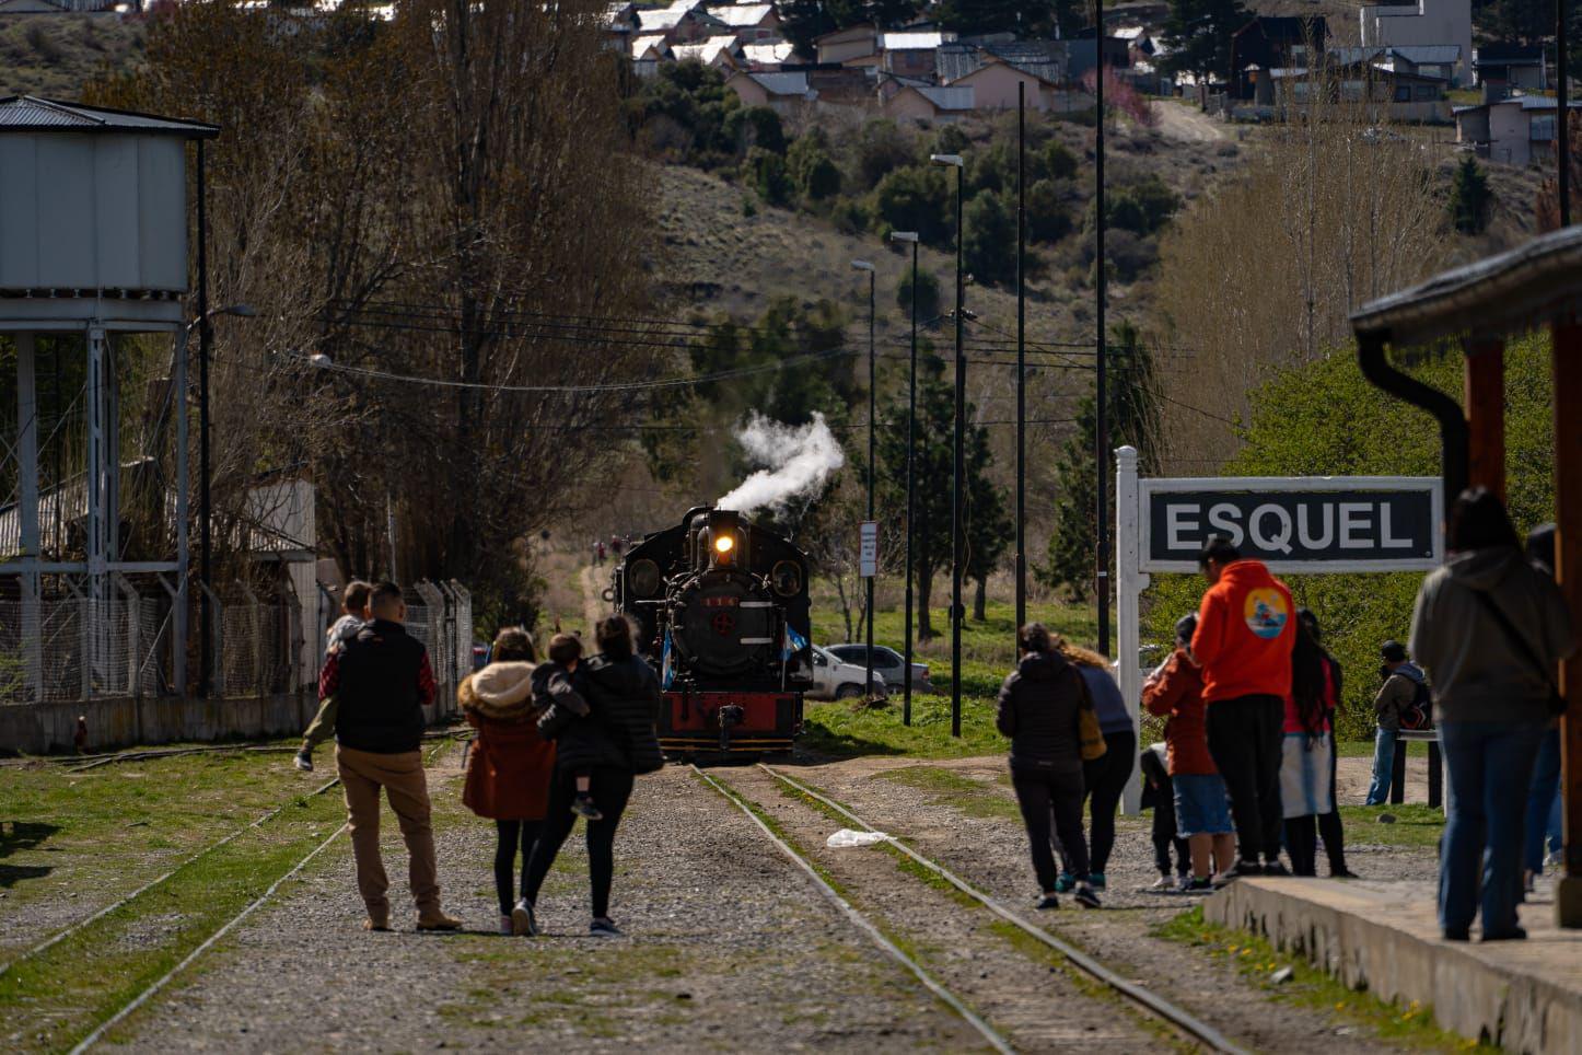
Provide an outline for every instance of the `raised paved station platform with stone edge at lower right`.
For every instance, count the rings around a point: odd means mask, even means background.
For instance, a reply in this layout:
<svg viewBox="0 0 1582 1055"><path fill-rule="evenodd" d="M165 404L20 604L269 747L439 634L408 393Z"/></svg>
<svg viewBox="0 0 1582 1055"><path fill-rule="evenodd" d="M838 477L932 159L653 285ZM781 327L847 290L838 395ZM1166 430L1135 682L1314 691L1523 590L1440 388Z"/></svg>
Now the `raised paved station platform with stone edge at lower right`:
<svg viewBox="0 0 1582 1055"><path fill-rule="evenodd" d="M1432 1004L1438 1023L1512 1052L1582 1055L1582 930L1555 927L1549 884L1522 906L1527 941L1440 938L1435 891L1367 879L1242 879L1204 916L1269 938L1353 989Z"/></svg>

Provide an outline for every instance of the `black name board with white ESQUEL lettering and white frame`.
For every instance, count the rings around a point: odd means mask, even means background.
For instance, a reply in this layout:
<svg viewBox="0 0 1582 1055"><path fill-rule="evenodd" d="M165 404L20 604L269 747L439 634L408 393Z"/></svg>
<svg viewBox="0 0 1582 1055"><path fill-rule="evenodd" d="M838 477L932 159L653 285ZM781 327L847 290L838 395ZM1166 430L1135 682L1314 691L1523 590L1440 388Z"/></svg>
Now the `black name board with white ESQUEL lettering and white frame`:
<svg viewBox="0 0 1582 1055"><path fill-rule="evenodd" d="M1209 535L1286 571L1425 571L1441 562L1438 479L1145 479L1142 571L1196 571Z"/></svg>

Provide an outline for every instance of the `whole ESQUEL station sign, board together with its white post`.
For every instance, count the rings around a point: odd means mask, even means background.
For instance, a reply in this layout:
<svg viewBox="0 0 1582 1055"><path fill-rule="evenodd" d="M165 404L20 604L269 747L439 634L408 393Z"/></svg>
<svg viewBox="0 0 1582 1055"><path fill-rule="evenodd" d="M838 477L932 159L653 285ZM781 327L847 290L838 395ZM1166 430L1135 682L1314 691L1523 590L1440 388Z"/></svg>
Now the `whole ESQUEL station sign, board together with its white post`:
<svg viewBox="0 0 1582 1055"><path fill-rule="evenodd" d="M1438 476L1220 476L1137 479L1137 451L1115 451L1115 656L1141 743L1139 596L1150 571L1198 571L1209 535L1280 573L1432 571L1444 562ZM1185 612L1174 612L1185 615ZM1168 653L1161 653L1163 660ZM1152 666L1152 664L1150 664ZM1134 778L1122 800L1141 808Z"/></svg>

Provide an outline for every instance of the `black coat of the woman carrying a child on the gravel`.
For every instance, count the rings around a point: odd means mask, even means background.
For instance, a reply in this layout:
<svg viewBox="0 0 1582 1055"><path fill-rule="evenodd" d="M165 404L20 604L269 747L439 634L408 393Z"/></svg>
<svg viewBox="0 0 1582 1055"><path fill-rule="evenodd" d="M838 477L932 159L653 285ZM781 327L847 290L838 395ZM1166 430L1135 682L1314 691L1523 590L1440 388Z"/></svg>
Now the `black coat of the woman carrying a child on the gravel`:
<svg viewBox="0 0 1582 1055"><path fill-rule="evenodd" d="M562 770L622 769L652 773L664 764L655 723L660 718L660 679L639 660L596 655L577 664L571 677L587 715L554 701L538 728L555 739Z"/></svg>

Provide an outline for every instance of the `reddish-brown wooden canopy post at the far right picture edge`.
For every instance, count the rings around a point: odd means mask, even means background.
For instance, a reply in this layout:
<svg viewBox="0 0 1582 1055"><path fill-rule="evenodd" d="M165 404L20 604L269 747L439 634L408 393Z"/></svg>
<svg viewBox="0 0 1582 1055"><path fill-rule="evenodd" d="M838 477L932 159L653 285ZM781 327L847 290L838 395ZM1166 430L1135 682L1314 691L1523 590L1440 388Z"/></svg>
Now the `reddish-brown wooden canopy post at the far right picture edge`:
<svg viewBox="0 0 1582 1055"><path fill-rule="evenodd" d="M1582 427L1569 418L1582 406L1582 324L1574 316L1554 324L1555 378L1555 576L1582 620ZM1582 655L1560 664L1560 690L1568 701L1582 696ZM1560 723L1565 792L1565 875L1555 886L1555 922L1582 927L1582 710L1576 704Z"/></svg>

